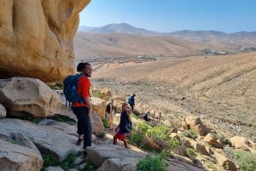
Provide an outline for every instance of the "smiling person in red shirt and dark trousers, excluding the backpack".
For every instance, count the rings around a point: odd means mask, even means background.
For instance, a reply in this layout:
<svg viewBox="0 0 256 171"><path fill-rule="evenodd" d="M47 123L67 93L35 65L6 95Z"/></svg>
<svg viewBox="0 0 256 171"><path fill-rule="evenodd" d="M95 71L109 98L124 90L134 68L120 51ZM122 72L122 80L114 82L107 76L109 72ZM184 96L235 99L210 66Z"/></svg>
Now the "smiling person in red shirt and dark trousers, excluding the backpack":
<svg viewBox="0 0 256 171"><path fill-rule="evenodd" d="M92 105L90 104L90 79L92 68L90 63L81 62L77 66L77 71L81 73L78 83L78 92L84 99L84 103L73 102L72 111L78 118L78 130L79 139L77 145L80 145L84 140L84 155L86 155L85 149L87 146L91 146L91 123L90 116L92 114Z"/></svg>

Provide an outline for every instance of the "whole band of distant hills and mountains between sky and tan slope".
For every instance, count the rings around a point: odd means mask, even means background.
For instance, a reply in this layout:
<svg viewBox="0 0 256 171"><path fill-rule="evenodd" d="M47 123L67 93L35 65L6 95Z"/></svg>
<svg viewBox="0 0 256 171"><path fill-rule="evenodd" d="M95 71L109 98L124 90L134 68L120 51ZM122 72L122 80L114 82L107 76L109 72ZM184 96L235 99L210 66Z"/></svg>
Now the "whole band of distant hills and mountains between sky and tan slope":
<svg viewBox="0 0 256 171"><path fill-rule="evenodd" d="M77 60L108 57L182 57L256 51L256 31L173 31L160 33L126 23L102 27L80 26L74 38Z"/></svg>

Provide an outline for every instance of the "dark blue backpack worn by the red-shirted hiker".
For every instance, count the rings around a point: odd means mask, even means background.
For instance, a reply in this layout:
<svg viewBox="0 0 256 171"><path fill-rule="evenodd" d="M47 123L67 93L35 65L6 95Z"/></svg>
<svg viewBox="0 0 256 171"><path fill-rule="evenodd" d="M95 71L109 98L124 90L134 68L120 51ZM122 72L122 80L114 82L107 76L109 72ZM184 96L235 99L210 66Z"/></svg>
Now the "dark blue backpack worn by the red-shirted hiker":
<svg viewBox="0 0 256 171"><path fill-rule="evenodd" d="M84 99L78 93L79 78L81 76L82 76L81 74L69 75L64 79L63 94L66 97L66 106L67 106L67 101L69 102L69 106L70 106L70 103L75 101L79 103L84 103Z"/></svg>

